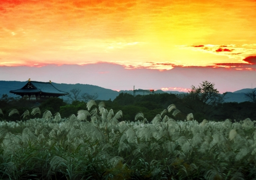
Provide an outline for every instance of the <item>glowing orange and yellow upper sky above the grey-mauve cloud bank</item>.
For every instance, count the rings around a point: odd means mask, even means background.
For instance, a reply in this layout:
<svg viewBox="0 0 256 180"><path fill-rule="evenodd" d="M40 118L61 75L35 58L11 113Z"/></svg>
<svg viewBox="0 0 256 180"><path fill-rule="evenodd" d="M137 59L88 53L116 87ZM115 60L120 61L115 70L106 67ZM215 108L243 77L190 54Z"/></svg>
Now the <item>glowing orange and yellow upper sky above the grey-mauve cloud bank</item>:
<svg viewBox="0 0 256 180"><path fill-rule="evenodd" d="M254 70L255 17L255 0L0 0L0 66Z"/></svg>

